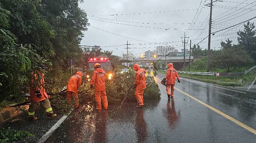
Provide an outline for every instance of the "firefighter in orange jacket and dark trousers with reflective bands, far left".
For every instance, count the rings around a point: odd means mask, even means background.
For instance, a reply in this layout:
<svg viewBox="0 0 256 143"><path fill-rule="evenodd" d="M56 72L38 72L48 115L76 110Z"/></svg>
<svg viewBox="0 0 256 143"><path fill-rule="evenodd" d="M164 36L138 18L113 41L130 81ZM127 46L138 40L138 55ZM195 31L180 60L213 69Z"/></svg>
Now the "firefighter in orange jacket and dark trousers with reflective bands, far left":
<svg viewBox="0 0 256 143"><path fill-rule="evenodd" d="M39 67L45 71L47 67L45 67L43 64L40 64ZM46 89L44 88L44 74L40 71L32 72L33 78L31 80L30 84L30 100L31 105L28 109L28 119L33 121L37 120L37 117L35 117L35 109L38 105L44 108L47 118L51 119L56 116L56 114L53 113L53 109L51 107L51 103L49 101L49 96L46 94ZM40 74L41 79L38 77L38 74ZM36 83L35 81L37 79L40 79L39 83Z"/></svg>

